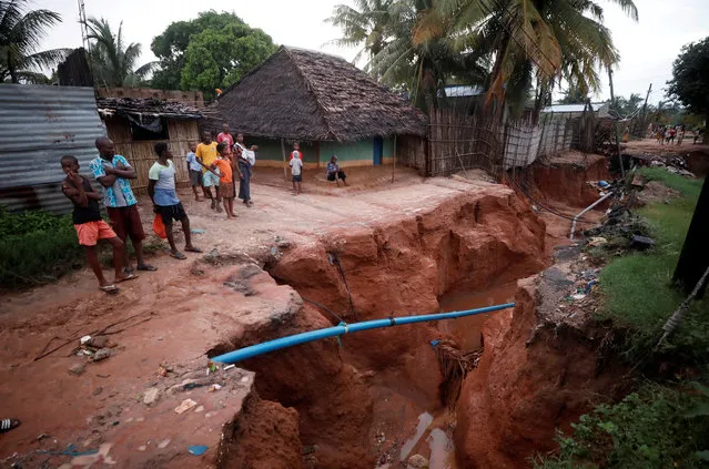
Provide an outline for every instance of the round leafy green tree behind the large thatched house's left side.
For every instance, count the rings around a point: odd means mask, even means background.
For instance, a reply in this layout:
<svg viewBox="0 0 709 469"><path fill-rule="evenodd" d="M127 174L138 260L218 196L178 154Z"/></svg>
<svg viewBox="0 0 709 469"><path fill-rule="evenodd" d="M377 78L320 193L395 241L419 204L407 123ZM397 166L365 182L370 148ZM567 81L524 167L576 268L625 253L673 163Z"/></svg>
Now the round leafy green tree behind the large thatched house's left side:
<svg viewBox="0 0 709 469"><path fill-rule="evenodd" d="M151 49L159 59L153 86L201 90L209 100L215 89L241 79L276 47L270 35L234 13L205 11L192 21L170 24Z"/></svg>

